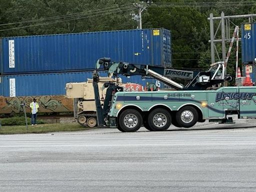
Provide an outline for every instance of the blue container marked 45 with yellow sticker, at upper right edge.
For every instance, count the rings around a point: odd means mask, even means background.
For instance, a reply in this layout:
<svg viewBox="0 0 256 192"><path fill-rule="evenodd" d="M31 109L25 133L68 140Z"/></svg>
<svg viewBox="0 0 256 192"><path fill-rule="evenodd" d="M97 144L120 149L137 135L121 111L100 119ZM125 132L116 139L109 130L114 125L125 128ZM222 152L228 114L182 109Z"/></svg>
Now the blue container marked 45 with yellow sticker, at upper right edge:
<svg viewBox="0 0 256 192"><path fill-rule="evenodd" d="M256 63L256 23L241 24L242 63Z"/></svg>

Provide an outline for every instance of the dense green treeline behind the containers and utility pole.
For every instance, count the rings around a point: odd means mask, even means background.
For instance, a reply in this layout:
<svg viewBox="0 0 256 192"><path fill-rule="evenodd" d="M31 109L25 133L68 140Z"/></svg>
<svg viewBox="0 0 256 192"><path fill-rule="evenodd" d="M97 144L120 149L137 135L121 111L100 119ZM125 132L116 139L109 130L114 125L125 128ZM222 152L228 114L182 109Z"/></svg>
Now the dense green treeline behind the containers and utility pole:
<svg viewBox="0 0 256 192"><path fill-rule="evenodd" d="M253 0L153 0L151 4L138 0L0 0L0 36L133 29L137 27L130 15L137 13L134 2L147 6L142 12L143 28L171 30L173 66L186 68L207 68L210 63L209 13L237 15L256 10ZM221 44L216 46L221 57ZM232 54L231 66L234 61Z"/></svg>

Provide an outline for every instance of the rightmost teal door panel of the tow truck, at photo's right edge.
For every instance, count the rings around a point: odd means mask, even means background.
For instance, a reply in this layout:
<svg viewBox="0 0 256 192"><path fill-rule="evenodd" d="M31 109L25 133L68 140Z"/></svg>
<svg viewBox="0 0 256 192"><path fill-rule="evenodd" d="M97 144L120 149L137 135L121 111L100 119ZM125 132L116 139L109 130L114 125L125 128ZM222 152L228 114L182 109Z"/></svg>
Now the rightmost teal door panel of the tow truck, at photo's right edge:
<svg viewBox="0 0 256 192"><path fill-rule="evenodd" d="M256 87L239 87L240 118L256 118Z"/></svg>

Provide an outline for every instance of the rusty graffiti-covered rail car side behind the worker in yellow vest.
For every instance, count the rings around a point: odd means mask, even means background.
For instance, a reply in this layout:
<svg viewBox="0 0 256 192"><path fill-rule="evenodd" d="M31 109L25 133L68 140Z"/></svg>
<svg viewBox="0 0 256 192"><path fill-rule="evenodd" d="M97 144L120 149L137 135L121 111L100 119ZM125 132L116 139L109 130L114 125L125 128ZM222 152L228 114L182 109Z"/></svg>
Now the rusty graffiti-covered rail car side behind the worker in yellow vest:
<svg viewBox="0 0 256 192"><path fill-rule="evenodd" d="M35 98L39 104L39 112L68 112L73 111L73 101L64 95L43 96L0 96L0 113L23 112L21 103L25 103L26 112L30 112L29 104Z"/></svg>

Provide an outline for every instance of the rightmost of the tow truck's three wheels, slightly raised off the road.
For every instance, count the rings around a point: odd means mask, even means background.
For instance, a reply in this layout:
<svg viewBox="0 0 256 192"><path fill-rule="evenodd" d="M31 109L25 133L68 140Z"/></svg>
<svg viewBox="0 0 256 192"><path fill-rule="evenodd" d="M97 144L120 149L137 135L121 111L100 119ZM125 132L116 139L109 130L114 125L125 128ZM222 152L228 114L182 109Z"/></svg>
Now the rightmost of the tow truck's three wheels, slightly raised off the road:
<svg viewBox="0 0 256 192"><path fill-rule="evenodd" d="M198 112L192 106L183 106L176 112L177 124L181 127L189 128L198 120Z"/></svg>

